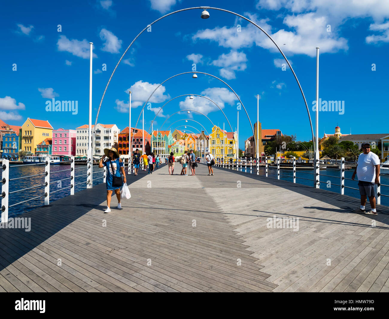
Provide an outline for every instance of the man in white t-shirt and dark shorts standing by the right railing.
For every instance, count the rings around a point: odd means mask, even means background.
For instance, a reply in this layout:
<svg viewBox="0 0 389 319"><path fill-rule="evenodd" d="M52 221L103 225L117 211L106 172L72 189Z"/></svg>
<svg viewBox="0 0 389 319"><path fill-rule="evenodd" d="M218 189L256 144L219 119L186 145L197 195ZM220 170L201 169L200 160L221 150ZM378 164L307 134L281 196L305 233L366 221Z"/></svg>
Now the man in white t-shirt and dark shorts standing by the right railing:
<svg viewBox="0 0 389 319"><path fill-rule="evenodd" d="M377 215L375 209L375 184L379 183L380 159L376 154L370 151L370 144L362 144L363 153L358 157L357 167L351 179L354 180L355 174L358 177L359 193L361 194L361 207L355 209L356 213L365 213L368 215ZM371 206L370 211L366 211L365 204L367 198Z"/></svg>

